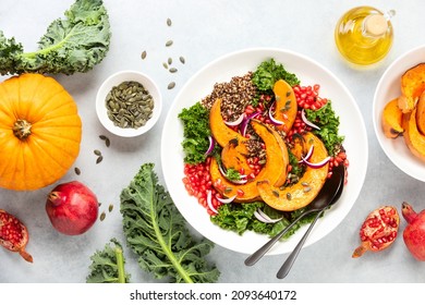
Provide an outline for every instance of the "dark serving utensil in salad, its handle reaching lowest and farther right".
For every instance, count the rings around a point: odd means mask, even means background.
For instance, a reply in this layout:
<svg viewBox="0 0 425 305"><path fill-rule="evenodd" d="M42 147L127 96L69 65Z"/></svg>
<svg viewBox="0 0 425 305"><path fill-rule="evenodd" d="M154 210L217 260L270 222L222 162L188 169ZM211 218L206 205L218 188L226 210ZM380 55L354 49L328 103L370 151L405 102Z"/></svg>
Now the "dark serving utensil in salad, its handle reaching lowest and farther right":
<svg viewBox="0 0 425 305"><path fill-rule="evenodd" d="M312 231L314 224L316 223L317 219L321 216L321 213L325 211L325 209L338 202L339 197L341 196L343 185L344 185L344 167L340 166L337 169L333 170L332 178L335 180L335 183L339 181L339 187L337 188L337 192L333 194L333 197L328 202L328 204L316 215L316 218L313 220L312 224L309 224L308 230L304 233L304 236L301 239L299 244L295 246L295 248L292 251L292 253L288 256L287 260L283 263L282 267L280 267L278 273L276 274L278 279L283 279L287 277L289 271L292 268L292 265L294 264L296 257L300 254L301 248L303 247L305 241L307 240L307 236L309 232ZM332 179L331 178L331 179Z"/></svg>

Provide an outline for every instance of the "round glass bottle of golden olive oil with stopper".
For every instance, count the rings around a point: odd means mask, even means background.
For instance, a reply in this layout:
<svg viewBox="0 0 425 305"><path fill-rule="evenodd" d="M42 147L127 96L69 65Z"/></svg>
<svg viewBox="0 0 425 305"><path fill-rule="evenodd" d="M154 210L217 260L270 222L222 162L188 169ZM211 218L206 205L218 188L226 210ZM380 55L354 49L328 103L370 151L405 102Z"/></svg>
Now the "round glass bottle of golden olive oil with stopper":
<svg viewBox="0 0 425 305"><path fill-rule="evenodd" d="M393 28L388 14L359 7L341 16L335 28L339 52L351 63L368 65L382 60L392 46Z"/></svg>

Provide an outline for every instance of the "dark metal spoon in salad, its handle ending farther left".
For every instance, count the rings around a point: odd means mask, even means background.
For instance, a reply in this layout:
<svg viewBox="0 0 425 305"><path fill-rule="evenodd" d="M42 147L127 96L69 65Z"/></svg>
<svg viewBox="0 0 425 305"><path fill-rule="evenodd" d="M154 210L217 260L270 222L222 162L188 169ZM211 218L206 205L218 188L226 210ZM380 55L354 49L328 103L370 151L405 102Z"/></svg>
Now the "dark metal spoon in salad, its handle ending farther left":
<svg viewBox="0 0 425 305"><path fill-rule="evenodd" d="M342 168L342 170L341 170ZM341 173L342 171L342 173ZM333 170L333 174L329 178L325 185L321 187L320 192L317 194L316 198L308 205L308 209L300 215L294 221L292 221L287 228L280 231L275 235L270 241L268 241L264 246L258 248L255 253L250 255L245 259L246 266L253 266L256 264L291 228L300 221L303 217L318 212L332 205L336 200L333 198L337 196L338 191L341 188L341 180L343 180L343 166L338 167ZM339 197L339 196L338 196Z"/></svg>

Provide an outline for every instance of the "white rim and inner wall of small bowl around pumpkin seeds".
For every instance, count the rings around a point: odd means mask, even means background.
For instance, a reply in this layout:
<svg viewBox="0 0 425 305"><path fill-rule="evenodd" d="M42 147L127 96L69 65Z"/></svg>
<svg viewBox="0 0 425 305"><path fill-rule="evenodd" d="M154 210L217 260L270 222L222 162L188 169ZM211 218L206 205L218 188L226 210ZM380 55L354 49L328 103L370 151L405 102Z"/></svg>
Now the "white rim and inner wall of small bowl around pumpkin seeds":
<svg viewBox="0 0 425 305"><path fill-rule="evenodd" d="M123 82L138 82L150 94L154 99L153 115L147 120L146 124L138 127L120 127L113 124L112 120L108 118L108 109L106 107L106 97L112 87L120 85ZM162 97L156 83L146 74L137 71L121 71L109 76L99 87L96 96L96 112L100 123L111 133L123 136L133 137L138 136L149 131L158 121L162 110Z"/></svg>

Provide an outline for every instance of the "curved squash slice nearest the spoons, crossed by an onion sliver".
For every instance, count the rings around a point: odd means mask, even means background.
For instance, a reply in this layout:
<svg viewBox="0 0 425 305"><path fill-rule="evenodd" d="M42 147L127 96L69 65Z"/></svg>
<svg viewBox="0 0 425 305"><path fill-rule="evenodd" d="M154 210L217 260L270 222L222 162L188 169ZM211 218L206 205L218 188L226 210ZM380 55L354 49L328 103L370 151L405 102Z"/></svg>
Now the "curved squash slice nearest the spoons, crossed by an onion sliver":
<svg viewBox="0 0 425 305"><path fill-rule="evenodd" d="M328 157L324 143L316 135L306 133L304 139L306 149L314 145L311 162L320 162ZM318 169L307 167L298 183L284 188L274 186L269 180L258 180L257 190L262 199L270 207L282 211L296 210L316 198L326 182L328 168L328 163Z"/></svg>

